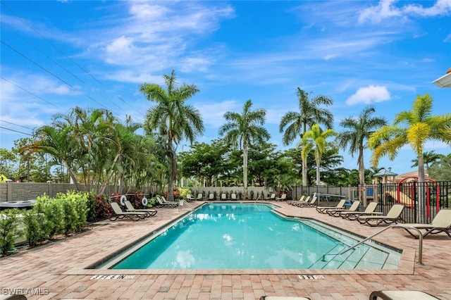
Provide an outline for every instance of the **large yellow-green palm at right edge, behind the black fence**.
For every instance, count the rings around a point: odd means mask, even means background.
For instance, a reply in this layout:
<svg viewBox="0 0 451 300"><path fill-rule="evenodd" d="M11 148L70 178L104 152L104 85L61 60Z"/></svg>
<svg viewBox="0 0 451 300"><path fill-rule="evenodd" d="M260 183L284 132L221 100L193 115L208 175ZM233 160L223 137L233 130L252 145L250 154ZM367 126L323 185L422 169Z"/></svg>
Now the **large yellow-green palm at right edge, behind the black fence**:
<svg viewBox="0 0 451 300"><path fill-rule="evenodd" d="M424 182L424 145L435 139L451 144L451 113L431 115L433 99L429 94L417 96L412 111L395 115L393 125L382 127L369 137L369 147L374 149L371 163L378 165L382 156L393 160L402 146L409 144L418 159L418 182ZM424 190L419 190L419 203L424 202ZM419 205L418 216L423 214Z"/></svg>

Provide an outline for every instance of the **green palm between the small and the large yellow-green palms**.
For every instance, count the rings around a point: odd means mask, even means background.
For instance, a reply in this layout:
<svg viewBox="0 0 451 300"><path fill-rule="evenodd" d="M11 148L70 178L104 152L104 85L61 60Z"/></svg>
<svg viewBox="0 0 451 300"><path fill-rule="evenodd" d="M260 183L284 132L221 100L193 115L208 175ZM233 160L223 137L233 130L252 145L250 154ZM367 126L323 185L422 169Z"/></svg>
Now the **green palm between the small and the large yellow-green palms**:
<svg viewBox="0 0 451 300"><path fill-rule="evenodd" d="M347 130L338 135L338 144L342 148L349 146L350 154L359 154L357 165L359 166L359 184L365 183L364 149L368 146L366 141L374 130L387 125L385 118L371 117L376 110L372 106L367 106L360 113L359 118L345 118L340 122L340 126Z"/></svg>

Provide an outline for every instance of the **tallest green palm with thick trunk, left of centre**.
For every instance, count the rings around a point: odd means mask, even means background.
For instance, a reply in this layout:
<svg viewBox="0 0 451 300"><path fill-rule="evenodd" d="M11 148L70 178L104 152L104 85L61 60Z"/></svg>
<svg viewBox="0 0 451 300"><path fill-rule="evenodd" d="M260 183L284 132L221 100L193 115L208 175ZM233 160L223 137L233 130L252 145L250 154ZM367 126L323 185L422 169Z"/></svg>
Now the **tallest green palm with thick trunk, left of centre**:
<svg viewBox="0 0 451 300"><path fill-rule="evenodd" d="M194 137L204 132L204 123L199 111L190 104L185 104L199 89L195 85L186 84L177 87L174 70L171 75L163 77L166 90L153 83L143 83L140 92L147 100L156 102L156 106L147 112L144 128L149 131L158 130L161 135L166 136L165 149L169 164L168 200L172 201L173 182L177 180L176 146L182 139L192 143Z"/></svg>

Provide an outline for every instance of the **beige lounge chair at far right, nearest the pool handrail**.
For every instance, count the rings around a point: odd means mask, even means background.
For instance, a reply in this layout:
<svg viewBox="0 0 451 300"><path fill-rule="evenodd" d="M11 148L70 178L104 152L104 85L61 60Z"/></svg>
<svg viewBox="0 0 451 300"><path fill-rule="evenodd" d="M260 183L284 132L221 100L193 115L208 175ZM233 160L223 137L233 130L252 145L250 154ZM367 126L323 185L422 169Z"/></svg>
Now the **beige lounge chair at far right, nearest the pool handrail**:
<svg viewBox="0 0 451 300"><path fill-rule="evenodd" d="M415 227L418 230L426 230L426 232L421 234L423 237L426 237L426 235L435 235L440 232L445 232L448 237L451 237L451 209L440 209L437 215L435 215L435 218L433 218L431 224L403 223L398 224L398 226L404 228L404 230L409 232L409 234L416 239L418 239L418 235L414 235L412 233L412 228L409 227Z"/></svg>

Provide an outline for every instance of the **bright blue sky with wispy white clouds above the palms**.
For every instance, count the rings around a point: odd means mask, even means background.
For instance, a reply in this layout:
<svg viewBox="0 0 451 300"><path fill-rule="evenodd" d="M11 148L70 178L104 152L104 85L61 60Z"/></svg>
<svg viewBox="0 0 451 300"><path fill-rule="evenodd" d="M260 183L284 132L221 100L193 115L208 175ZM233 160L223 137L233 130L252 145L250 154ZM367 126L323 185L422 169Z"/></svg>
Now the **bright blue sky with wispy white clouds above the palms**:
<svg viewBox="0 0 451 300"><path fill-rule="evenodd" d="M451 0L1 1L0 9L1 148L75 105L142 122L152 103L140 84L163 85L171 70L200 89L189 100L206 127L199 142L218 138L223 114L252 99L267 111L270 142L285 149L278 125L297 111L297 87L333 99L338 132L367 105L392 123L419 94L431 94L434 114L451 112L451 89L432 83L451 67ZM357 156L341 154L343 167L357 168ZM408 172L414 157L406 147L379 166Z"/></svg>

